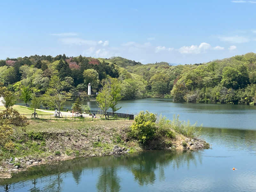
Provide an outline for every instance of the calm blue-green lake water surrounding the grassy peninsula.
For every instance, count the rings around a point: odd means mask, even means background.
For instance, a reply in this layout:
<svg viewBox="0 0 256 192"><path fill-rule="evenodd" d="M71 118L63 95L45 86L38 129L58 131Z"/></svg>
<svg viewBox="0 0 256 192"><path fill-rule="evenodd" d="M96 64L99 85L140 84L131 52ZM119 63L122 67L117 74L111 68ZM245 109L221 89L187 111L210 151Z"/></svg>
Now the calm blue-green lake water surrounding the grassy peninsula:
<svg viewBox="0 0 256 192"><path fill-rule="evenodd" d="M95 102L88 104L97 108ZM118 112L148 110L170 119L179 114L182 120L197 121L203 124L202 138L211 148L77 158L32 167L1 180L0 191L256 191L256 106L169 99L121 101L119 105Z"/></svg>

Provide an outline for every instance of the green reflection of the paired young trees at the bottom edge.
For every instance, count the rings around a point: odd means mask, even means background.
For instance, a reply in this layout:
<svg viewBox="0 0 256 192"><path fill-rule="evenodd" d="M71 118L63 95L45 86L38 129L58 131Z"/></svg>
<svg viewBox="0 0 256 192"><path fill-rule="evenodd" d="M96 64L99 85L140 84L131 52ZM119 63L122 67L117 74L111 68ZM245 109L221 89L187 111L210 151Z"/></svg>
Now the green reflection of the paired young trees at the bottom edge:
<svg viewBox="0 0 256 192"><path fill-rule="evenodd" d="M98 191L113 191L117 192L120 190L120 179L117 177L116 168L104 167L100 171L100 176L96 187Z"/></svg>

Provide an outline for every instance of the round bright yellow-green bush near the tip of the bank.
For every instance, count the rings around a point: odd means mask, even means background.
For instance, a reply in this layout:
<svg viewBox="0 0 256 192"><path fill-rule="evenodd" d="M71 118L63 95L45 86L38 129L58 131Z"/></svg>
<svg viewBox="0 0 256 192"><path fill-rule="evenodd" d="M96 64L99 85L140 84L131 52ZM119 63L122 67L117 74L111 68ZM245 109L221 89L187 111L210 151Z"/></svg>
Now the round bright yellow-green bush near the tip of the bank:
<svg viewBox="0 0 256 192"><path fill-rule="evenodd" d="M156 115L140 111L131 126L131 134L140 143L145 143L154 138L156 134Z"/></svg>

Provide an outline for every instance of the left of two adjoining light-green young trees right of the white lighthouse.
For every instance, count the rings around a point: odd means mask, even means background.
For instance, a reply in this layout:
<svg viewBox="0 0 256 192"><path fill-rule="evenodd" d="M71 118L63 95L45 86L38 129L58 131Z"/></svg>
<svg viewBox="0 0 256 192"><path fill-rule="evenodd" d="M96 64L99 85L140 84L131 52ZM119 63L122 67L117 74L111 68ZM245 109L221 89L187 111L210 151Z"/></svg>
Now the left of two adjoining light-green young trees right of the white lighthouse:
<svg viewBox="0 0 256 192"><path fill-rule="evenodd" d="M107 85L104 85L99 94L97 95L96 102L98 107L103 110L105 118L107 118L107 110L110 108L111 105L110 88Z"/></svg>

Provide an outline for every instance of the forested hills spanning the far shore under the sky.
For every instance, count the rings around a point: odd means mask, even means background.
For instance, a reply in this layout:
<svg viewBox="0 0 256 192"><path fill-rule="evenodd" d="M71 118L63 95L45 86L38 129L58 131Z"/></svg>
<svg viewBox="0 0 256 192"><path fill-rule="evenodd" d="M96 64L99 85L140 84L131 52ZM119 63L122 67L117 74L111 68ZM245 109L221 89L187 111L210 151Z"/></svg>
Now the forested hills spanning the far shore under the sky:
<svg viewBox="0 0 256 192"><path fill-rule="evenodd" d="M173 97L175 101L256 104L256 54L247 53L194 65L171 66L167 62L142 65L112 57L67 57L65 54L0 60L0 81L9 90L23 86L44 94L52 76L65 82L65 91L84 97L87 85L100 91L109 77L122 84L123 99Z"/></svg>

